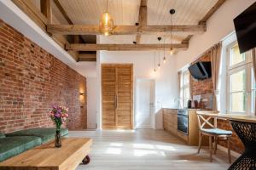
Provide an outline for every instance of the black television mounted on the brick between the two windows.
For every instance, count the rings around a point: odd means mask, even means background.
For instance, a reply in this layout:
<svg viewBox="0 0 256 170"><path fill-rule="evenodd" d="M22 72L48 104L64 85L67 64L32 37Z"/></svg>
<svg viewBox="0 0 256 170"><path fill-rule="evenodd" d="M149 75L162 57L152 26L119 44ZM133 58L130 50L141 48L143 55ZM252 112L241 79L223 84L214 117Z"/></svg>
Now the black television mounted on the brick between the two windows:
<svg viewBox="0 0 256 170"><path fill-rule="evenodd" d="M212 77L210 61L199 61L189 66L189 72L196 80L204 80Z"/></svg>

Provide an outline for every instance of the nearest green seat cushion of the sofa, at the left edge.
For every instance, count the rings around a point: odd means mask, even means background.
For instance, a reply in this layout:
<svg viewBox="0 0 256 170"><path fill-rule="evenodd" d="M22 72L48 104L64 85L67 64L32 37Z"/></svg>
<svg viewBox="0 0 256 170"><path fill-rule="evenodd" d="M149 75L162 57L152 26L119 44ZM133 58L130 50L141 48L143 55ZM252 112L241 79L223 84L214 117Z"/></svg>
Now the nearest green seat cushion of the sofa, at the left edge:
<svg viewBox="0 0 256 170"><path fill-rule="evenodd" d="M36 136L15 136L0 139L0 161L16 156L42 143Z"/></svg>

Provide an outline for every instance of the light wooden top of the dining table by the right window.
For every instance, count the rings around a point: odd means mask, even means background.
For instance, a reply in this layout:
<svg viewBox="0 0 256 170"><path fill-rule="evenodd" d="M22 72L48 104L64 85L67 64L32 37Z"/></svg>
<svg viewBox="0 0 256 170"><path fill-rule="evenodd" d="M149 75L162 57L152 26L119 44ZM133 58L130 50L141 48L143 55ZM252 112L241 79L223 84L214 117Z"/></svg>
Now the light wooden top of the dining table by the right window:
<svg viewBox="0 0 256 170"><path fill-rule="evenodd" d="M256 123L256 116L245 114L222 114L218 111L196 111L199 115L212 116L220 119L228 119L230 121L238 122L253 122Z"/></svg>

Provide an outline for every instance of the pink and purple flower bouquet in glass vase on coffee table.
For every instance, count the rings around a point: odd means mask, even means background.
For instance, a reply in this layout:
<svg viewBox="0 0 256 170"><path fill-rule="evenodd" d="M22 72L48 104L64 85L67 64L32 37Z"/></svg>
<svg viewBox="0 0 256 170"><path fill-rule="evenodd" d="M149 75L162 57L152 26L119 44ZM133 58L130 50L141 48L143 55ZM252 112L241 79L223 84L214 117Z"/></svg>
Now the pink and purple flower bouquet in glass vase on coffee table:
<svg viewBox="0 0 256 170"><path fill-rule="evenodd" d="M55 123L56 133L55 133L55 147L61 147L61 125L67 122L68 108L64 106L52 105L49 111L49 117Z"/></svg>

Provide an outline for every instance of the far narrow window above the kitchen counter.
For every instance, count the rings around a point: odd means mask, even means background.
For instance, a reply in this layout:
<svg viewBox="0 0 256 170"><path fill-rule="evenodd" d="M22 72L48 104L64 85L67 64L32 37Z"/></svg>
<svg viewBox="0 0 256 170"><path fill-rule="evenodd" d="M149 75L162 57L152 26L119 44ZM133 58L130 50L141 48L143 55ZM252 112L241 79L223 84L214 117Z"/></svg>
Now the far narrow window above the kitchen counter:
<svg viewBox="0 0 256 170"><path fill-rule="evenodd" d="M182 71L180 73L180 106L181 108L188 107L188 100L190 99L190 89L189 89L189 71Z"/></svg>

